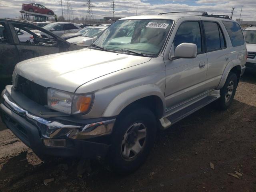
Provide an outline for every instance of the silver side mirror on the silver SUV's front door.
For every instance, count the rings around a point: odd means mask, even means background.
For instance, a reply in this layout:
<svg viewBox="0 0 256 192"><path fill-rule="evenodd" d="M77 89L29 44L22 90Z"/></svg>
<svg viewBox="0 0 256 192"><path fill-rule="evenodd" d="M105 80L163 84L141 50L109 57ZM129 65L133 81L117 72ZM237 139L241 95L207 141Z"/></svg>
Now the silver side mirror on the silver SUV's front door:
<svg viewBox="0 0 256 192"><path fill-rule="evenodd" d="M177 58L196 58L196 55L197 55L196 44L182 43L176 47L176 49L174 50L174 55L173 54L169 55L169 59L174 60Z"/></svg>

